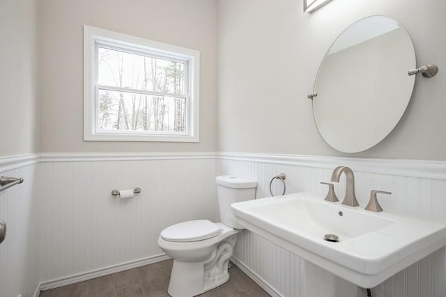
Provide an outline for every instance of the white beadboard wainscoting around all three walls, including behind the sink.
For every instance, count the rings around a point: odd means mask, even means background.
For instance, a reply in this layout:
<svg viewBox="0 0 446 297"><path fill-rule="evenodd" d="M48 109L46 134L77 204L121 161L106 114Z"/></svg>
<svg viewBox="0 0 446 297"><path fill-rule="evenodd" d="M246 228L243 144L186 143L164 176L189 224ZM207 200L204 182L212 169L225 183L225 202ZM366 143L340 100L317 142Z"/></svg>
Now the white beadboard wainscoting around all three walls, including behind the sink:
<svg viewBox="0 0 446 297"><path fill-rule="evenodd" d="M268 197L270 179L286 174L286 193L325 197L319 182L337 166L355 172L357 199L372 189L385 211L446 218L446 162L355 159L273 154L36 154L0 159L1 175L24 183L0 193L0 219L8 236L0 245L0 296L36 296L50 289L166 259L160 231L183 220L218 220L215 176L258 182ZM335 186L344 195L342 177ZM139 186L130 200L114 188ZM277 179L273 193L282 193ZM234 262L272 296L365 297L365 291L291 252L243 232ZM445 297L446 249L425 257L374 288L373 296Z"/></svg>

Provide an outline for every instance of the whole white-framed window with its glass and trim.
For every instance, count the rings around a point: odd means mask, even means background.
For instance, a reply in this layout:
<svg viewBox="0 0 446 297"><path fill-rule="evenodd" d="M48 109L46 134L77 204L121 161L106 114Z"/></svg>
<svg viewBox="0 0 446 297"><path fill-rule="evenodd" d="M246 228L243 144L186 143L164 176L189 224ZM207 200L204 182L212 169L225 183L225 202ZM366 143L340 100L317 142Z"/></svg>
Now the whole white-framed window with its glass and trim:
<svg viewBox="0 0 446 297"><path fill-rule="evenodd" d="M85 141L199 141L199 51L84 26Z"/></svg>

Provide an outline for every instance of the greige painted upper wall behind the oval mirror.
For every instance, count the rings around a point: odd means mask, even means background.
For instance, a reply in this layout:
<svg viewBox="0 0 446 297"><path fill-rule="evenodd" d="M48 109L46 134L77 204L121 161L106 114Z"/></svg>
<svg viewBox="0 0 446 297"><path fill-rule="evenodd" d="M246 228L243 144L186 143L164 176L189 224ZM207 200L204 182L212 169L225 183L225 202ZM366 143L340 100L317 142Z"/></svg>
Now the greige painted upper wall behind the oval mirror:
<svg viewBox="0 0 446 297"><path fill-rule="evenodd" d="M334 0L313 14L302 13L302 1L218 1L217 149L446 160L445 12L446 2L433 0ZM369 15L401 22L417 65L435 63L440 72L432 79L417 77L408 109L390 136L364 152L344 154L319 136L307 94L337 35Z"/></svg>

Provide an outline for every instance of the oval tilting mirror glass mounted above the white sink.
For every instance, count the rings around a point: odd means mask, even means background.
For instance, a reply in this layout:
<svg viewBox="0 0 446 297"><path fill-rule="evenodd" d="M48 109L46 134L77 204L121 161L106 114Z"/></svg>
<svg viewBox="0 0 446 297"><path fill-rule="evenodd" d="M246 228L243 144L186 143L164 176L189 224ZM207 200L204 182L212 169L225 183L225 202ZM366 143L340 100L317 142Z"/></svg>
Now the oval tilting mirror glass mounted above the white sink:
<svg viewBox="0 0 446 297"><path fill-rule="evenodd" d="M334 40L319 67L313 98L319 133L341 152L373 147L397 125L412 95L412 40L399 22L360 19Z"/></svg>

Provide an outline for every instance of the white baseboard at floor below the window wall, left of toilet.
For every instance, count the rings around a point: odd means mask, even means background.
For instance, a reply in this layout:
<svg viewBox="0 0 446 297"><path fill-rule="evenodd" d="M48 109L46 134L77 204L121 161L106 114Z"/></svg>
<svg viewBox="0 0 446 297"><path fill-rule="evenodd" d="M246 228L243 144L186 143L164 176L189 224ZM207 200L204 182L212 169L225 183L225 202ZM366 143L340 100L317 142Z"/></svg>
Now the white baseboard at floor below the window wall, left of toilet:
<svg viewBox="0 0 446 297"><path fill-rule="evenodd" d="M101 276L125 271L125 270L132 269L132 268L137 268L140 266L145 266L148 264L161 262L161 261L164 261L167 259L170 259L170 257L165 254L160 254L160 255L155 255L152 257L144 258L144 259L138 259L138 260L134 260L134 261L130 261L130 262L114 265L114 266L108 266L106 268L96 269L96 270L85 272L85 273L78 273L78 274L70 275L70 276L67 276L64 278L48 280L48 281L40 283L38 290L36 291L37 295L35 294L34 296L37 297L38 293L40 291L55 289L55 288L66 286L68 284L75 284L76 282L83 282L85 280L92 280L93 278L99 278Z"/></svg>

